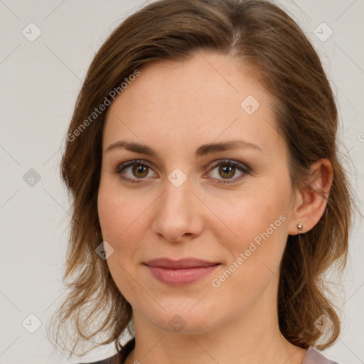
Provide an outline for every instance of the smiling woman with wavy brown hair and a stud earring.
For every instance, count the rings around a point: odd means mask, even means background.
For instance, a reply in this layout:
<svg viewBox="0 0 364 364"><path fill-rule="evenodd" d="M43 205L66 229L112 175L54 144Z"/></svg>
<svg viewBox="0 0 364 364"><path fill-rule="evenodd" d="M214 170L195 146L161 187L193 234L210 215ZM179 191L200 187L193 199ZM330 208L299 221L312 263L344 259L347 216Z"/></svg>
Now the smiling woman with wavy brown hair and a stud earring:
<svg viewBox="0 0 364 364"><path fill-rule="evenodd" d="M63 155L71 353L104 334L117 354L98 363L333 363L321 277L346 262L352 209L337 124L318 55L274 4L129 16L90 65Z"/></svg>

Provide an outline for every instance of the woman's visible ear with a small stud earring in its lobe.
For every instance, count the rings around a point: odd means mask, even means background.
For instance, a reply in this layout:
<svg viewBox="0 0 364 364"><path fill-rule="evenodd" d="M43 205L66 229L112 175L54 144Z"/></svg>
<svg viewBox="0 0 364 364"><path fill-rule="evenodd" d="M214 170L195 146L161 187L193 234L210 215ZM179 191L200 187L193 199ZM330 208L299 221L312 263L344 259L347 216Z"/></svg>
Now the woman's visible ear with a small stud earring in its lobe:
<svg viewBox="0 0 364 364"><path fill-rule="evenodd" d="M333 168L328 159L320 159L311 165L313 178L296 194L294 210L289 219L289 235L297 235L297 224L302 224L301 233L308 232L323 215L328 193L333 182Z"/></svg>

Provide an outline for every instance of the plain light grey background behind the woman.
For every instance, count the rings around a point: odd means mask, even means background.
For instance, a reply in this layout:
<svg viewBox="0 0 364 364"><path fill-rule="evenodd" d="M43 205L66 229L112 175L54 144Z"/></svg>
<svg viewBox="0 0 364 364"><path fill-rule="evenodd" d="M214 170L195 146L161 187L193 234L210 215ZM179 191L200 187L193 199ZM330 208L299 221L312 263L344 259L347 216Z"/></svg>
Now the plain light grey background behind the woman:
<svg viewBox="0 0 364 364"><path fill-rule="evenodd" d="M355 166L350 168L350 178L360 206L364 185L363 2L279 1L314 42L333 83L343 123L342 152ZM1 364L60 363L50 356L53 344L45 336L45 323L64 293L61 274L70 205L58 176L63 139L93 55L109 32L141 4L144 1L0 0ZM31 22L42 32L33 42L22 34ZM333 30L325 42L315 35L322 22ZM34 186L23 181L30 168L41 176ZM336 345L325 351L341 364L364 363L363 225L359 223L358 218L343 285L336 289L343 329ZM22 326L29 314L42 323L35 333ZM35 320L26 322L34 325ZM113 346L82 360L112 353ZM69 363L65 358L61 362ZM80 358L71 362L80 362Z"/></svg>

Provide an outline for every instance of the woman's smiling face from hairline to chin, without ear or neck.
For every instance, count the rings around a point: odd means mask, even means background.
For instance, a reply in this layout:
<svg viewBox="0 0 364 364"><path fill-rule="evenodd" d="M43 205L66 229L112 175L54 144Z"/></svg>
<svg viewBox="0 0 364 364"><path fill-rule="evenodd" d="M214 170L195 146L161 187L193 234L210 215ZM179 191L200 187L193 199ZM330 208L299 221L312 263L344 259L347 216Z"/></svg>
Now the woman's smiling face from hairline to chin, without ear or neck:
<svg viewBox="0 0 364 364"><path fill-rule="evenodd" d="M297 221L267 90L214 53L139 70L107 114L98 194L107 264L134 320L202 333L276 317ZM146 265L157 258L216 265Z"/></svg>

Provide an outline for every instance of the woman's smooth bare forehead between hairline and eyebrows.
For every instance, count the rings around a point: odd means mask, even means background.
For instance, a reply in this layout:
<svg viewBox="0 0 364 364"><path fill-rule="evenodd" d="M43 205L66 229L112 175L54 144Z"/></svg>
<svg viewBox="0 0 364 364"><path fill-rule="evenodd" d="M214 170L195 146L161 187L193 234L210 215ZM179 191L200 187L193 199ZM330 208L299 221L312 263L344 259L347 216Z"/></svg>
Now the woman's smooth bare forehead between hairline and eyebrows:
<svg viewBox="0 0 364 364"><path fill-rule="evenodd" d="M278 138L272 97L237 60L198 53L186 62L163 60L139 71L107 112L104 150L118 139L173 149L232 137L268 146Z"/></svg>

